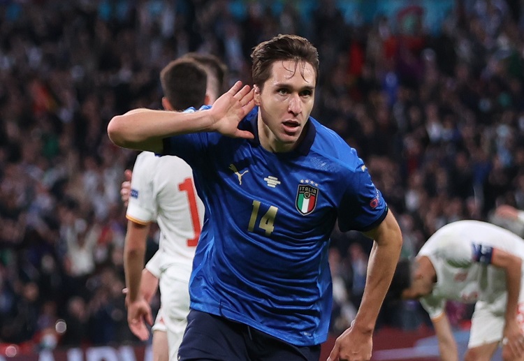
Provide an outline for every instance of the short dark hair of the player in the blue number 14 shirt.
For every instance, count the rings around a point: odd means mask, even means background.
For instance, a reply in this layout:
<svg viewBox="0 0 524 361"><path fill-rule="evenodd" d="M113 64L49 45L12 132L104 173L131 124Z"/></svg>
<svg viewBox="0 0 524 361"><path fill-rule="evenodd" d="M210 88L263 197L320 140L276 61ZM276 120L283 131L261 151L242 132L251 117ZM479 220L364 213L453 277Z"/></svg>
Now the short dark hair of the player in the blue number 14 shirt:
<svg viewBox="0 0 524 361"><path fill-rule="evenodd" d="M253 59L253 84L263 87L271 76L271 66L278 60L295 60L300 64L300 74L306 63L313 66L315 80L319 78L319 53L309 40L297 35L278 35L254 47L251 54Z"/></svg>

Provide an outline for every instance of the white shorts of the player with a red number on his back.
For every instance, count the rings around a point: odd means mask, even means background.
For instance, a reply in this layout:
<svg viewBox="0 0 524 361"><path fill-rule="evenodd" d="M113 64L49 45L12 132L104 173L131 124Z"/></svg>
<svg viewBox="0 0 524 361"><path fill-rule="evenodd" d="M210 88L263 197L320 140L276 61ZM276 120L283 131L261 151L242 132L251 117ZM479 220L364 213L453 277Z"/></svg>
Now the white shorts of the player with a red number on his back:
<svg viewBox="0 0 524 361"><path fill-rule="evenodd" d="M160 275L160 300L163 323L168 332L169 360L176 361L178 347L187 326L189 314L188 267L171 265Z"/></svg>

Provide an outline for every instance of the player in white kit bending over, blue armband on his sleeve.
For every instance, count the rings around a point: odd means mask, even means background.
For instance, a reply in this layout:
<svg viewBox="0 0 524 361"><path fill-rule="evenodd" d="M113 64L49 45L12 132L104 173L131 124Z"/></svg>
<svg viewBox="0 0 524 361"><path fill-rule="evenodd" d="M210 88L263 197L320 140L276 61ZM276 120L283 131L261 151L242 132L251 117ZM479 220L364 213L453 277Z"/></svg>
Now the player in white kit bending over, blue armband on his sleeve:
<svg viewBox="0 0 524 361"><path fill-rule="evenodd" d="M442 360L458 360L445 314L447 300L475 303L465 360L524 360L524 240L490 223L456 221L440 228L414 262L399 263L390 295L420 299L439 341Z"/></svg>

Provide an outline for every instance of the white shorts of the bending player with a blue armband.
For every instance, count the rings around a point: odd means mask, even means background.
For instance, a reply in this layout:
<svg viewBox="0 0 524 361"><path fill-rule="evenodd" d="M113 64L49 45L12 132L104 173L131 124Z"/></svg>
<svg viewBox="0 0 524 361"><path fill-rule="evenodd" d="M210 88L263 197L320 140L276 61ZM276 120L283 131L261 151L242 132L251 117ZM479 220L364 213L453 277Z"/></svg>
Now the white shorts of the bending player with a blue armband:
<svg viewBox="0 0 524 361"><path fill-rule="evenodd" d="M524 267L523 267L524 268ZM523 269L524 272L524 269ZM521 277L521 294L518 297L517 322L524 333L524 277ZM472 316L468 348L502 341L504 314L506 313L507 293L500 295L495 302L477 301Z"/></svg>

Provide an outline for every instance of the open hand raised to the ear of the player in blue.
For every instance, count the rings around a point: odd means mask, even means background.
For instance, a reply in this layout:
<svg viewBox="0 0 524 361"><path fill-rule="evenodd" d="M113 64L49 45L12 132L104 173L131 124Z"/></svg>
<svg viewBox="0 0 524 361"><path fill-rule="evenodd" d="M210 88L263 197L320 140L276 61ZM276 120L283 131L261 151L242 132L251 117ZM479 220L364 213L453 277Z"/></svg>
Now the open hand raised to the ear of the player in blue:
<svg viewBox="0 0 524 361"><path fill-rule="evenodd" d="M238 123L254 107L254 91L242 82L235 82L233 87L214 102L211 112L214 120L211 131L217 131L223 135L235 138L253 139L253 133L241 131Z"/></svg>

